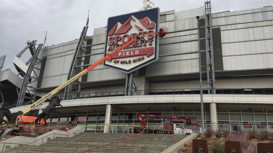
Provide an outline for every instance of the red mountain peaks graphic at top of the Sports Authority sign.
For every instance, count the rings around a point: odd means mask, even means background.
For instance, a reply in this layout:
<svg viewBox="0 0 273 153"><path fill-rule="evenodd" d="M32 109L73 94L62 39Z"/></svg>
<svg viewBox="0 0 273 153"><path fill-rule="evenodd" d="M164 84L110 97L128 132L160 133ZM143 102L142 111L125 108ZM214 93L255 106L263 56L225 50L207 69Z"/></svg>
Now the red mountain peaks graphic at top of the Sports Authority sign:
<svg viewBox="0 0 273 153"><path fill-rule="evenodd" d="M124 33L127 33L131 28L132 28L132 25L131 25L131 19L133 21L136 21L132 15L120 26L120 28L116 31L116 28L117 28L117 25L118 23L116 23L111 29L110 31L108 32L108 36L112 36L113 34L124 34ZM155 27L155 24L151 21L149 21L149 18L147 16L139 19L140 23L142 24L142 26L146 27L147 29L152 29ZM140 28L140 26L134 24L136 26L136 28L139 30L139 31L142 31L143 29ZM116 31L116 32L115 32Z"/></svg>

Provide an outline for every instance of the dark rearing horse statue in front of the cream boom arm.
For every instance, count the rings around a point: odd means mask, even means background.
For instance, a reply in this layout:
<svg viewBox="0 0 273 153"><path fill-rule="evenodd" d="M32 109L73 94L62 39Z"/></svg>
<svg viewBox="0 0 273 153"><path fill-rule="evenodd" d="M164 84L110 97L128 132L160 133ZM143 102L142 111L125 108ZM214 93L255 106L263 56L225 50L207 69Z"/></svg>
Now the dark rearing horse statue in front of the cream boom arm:
<svg viewBox="0 0 273 153"><path fill-rule="evenodd" d="M47 125L46 120L49 118L50 112L52 112L56 106L62 106L60 103L61 103L60 98L58 96L53 96L49 100L48 106L46 106L45 109L37 116L37 119L35 119L35 124L37 124L38 121L39 123L41 123L41 119L43 119L45 121L45 125Z"/></svg>

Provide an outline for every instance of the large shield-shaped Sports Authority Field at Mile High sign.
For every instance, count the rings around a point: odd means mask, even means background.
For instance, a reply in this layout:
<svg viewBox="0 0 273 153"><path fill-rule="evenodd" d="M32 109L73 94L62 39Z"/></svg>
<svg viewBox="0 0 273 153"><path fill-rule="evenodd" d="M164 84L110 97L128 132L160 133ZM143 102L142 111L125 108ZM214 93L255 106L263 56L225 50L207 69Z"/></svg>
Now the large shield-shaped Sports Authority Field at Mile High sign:
<svg viewBox="0 0 273 153"><path fill-rule="evenodd" d="M142 34L159 30L159 8L108 18L104 56ZM150 34L126 46L105 62L105 67L131 73L158 59L158 35Z"/></svg>

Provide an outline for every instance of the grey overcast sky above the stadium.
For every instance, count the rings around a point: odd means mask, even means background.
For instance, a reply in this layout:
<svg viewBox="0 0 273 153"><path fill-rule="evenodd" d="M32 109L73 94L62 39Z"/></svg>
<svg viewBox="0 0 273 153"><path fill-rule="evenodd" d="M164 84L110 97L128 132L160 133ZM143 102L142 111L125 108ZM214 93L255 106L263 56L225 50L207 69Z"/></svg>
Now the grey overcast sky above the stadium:
<svg viewBox="0 0 273 153"><path fill-rule="evenodd" d="M160 11L184 11L204 6L205 0L151 0ZM79 38L86 25L87 35L94 28L106 26L111 16L139 11L143 0L0 0L0 57L6 55L2 70L13 66L15 54L27 46L26 42L37 40L45 46L60 44ZM273 5L273 0L211 0L212 13L238 11ZM20 59L26 62L31 57L26 50Z"/></svg>

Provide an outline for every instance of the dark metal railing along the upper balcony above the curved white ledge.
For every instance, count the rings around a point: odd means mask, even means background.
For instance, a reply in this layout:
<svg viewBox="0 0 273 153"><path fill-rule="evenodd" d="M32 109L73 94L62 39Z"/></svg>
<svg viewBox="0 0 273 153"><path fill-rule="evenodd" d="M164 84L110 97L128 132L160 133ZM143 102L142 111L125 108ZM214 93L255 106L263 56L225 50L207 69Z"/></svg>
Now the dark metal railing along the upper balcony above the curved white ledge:
<svg viewBox="0 0 273 153"><path fill-rule="evenodd" d="M203 88L203 94L208 94L211 89ZM216 94L262 94L273 95L273 88L216 88ZM211 92L210 92L211 93ZM200 94L200 88L188 89L157 89L157 90L135 90L134 95L174 95L174 94ZM125 96L126 91L109 91L99 93L83 93L78 95L69 95L68 99L82 99L82 98L95 98L95 97L109 97L109 96ZM60 97L64 100L64 96ZM38 100L38 99L37 99ZM25 101L19 103L19 106L30 105L35 101ZM7 106L5 108L11 109L16 107L16 104Z"/></svg>

